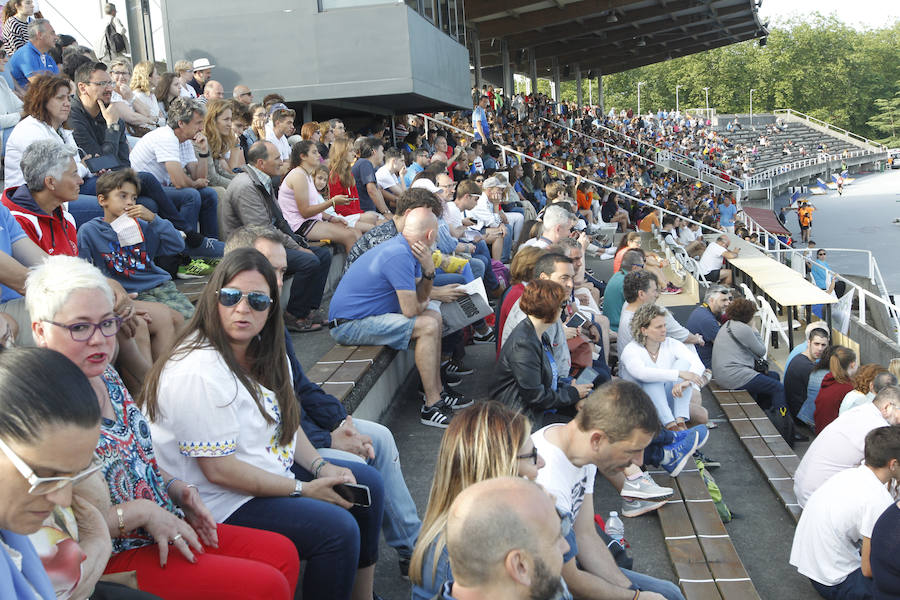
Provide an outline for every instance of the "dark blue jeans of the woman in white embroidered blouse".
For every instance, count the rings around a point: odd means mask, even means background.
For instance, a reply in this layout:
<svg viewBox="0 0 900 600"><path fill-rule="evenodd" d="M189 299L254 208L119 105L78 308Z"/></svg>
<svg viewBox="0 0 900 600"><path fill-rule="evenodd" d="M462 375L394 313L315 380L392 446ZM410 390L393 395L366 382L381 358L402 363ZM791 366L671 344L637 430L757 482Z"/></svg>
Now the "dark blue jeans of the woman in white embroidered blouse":
<svg viewBox="0 0 900 600"><path fill-rule="evenodd" d="M372 506L344 510L312 498L253 498L230 517L229 525L274 531L286 536L309 561L303 574L304 598L350 598L356 570L375 564L384 510L381 476L368 465L331 461L353 471L357 483L369 486ZM301 481L312 475L294 466Z"/></svg>

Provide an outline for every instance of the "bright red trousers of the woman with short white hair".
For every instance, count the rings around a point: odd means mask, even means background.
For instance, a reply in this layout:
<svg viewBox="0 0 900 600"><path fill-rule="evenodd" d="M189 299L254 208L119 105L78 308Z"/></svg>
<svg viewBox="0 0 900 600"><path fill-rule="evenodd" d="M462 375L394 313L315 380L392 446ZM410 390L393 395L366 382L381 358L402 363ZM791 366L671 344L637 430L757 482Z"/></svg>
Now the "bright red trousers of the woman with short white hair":
<svg viewBox="0 0 900 600"><path fill-rule="evenodd" d="M218 526L219 547L194 553L190 563L169 548L165 567L159 547L144 546L109 559L107 573L136 571L138 587L165 600L292 600L300 559L288 538L260 529Z"/></svg>

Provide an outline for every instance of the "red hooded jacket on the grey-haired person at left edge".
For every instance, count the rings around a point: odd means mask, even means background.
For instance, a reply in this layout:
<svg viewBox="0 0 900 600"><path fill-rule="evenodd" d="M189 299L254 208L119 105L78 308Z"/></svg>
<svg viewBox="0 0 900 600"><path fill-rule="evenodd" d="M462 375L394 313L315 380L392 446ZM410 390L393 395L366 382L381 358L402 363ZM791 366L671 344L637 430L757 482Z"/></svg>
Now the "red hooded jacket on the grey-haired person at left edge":
<svg viewBox="0 0 900 600"><path fill-rule="evenodd" d="M18 194L16 192L18 191ZM13 202L16 197L21 204ZM3 205L16 218L32 242L47 254L78 256L75 218L62 207L48 215L38 208L25 186L3 190ZM24 205L24 206L23 206Z"/></svg>

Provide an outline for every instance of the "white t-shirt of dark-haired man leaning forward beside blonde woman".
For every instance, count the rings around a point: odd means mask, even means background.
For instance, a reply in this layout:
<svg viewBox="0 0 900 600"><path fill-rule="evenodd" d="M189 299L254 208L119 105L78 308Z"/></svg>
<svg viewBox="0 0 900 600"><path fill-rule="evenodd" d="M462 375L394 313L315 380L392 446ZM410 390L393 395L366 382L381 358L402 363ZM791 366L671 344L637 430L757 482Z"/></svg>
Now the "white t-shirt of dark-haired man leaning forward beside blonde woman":
<svg viewBox="0 0 900 600"><path fill-rule="evenodd" d="M534 442L538 454L546 463L544 468L538 471L537 482L547 492L553 494L557 507L575 518L584 502L584 495L594 493L597 467L592 464L576 467L570 463L562 449L545 437L547 430L551 427L562 427L562 425L547 425L531 434L531 441ZM588 510L591 511L591 514L594 513L593 506L589 506Z"/></svg>

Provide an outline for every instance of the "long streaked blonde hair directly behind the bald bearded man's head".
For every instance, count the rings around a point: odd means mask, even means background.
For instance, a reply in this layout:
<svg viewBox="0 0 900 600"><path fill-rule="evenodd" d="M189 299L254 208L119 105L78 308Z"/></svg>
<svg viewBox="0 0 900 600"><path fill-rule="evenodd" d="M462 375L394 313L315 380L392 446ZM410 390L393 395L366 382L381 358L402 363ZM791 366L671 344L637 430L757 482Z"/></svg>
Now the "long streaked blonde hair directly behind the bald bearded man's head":
<svg viewBox="0 0 900 600"><path fill-rule="evenodd" d="M479 481L516 476L516 457L529 435L528 417L493 400L478 403L453 417L441 440L428 508L410 559L409 577L413 583L422 583L426 553L432 544L434 556L441 555L446 544L444 525L456 496ZM436 569L437 561L433 562Z"/></svg>

